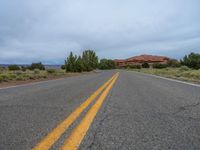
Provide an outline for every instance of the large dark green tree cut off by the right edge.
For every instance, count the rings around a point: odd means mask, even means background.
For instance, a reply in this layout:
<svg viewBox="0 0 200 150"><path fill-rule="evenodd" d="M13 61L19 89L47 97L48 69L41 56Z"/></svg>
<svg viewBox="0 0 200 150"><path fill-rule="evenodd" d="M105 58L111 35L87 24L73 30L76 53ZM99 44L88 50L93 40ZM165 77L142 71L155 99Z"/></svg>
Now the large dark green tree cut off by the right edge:
<svg viewBox="0 0 200 150"><path fill-rule="evenodd" d="M181 64L192 69L200 69L200 54L190 53L189 55L185 55L183 60L181 60Z"/></svg>

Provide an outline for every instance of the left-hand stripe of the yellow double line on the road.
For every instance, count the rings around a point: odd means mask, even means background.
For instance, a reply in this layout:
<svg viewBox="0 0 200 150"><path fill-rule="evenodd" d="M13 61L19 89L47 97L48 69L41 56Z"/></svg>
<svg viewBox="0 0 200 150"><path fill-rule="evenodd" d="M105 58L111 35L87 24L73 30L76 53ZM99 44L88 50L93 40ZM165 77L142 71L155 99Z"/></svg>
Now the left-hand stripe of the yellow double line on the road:
<svg viewBox="0 0 200 150"><path fill-rule="evenodd" d="M46 137L44 137L33 150L48 150L60 138L60 136L68 129L68 127L80 116L80 114L92 103L92 101L107 87L107 85L115 78L112 76L105 84L95 91L85 102L77 107L63 122L54 128Z"/></svg>

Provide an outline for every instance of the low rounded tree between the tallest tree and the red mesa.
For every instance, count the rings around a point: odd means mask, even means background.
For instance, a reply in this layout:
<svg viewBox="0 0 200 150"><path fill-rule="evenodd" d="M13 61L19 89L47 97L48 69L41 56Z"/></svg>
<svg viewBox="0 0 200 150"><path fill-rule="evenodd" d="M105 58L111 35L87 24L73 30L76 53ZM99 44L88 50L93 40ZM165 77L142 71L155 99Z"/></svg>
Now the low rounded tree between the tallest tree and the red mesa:
<svg viewBox="0 0 200 150"><path fill-rule="evenodd" d="M111 59L101 59L99 63L99 69L115 69L115 62Z"/></svg>

